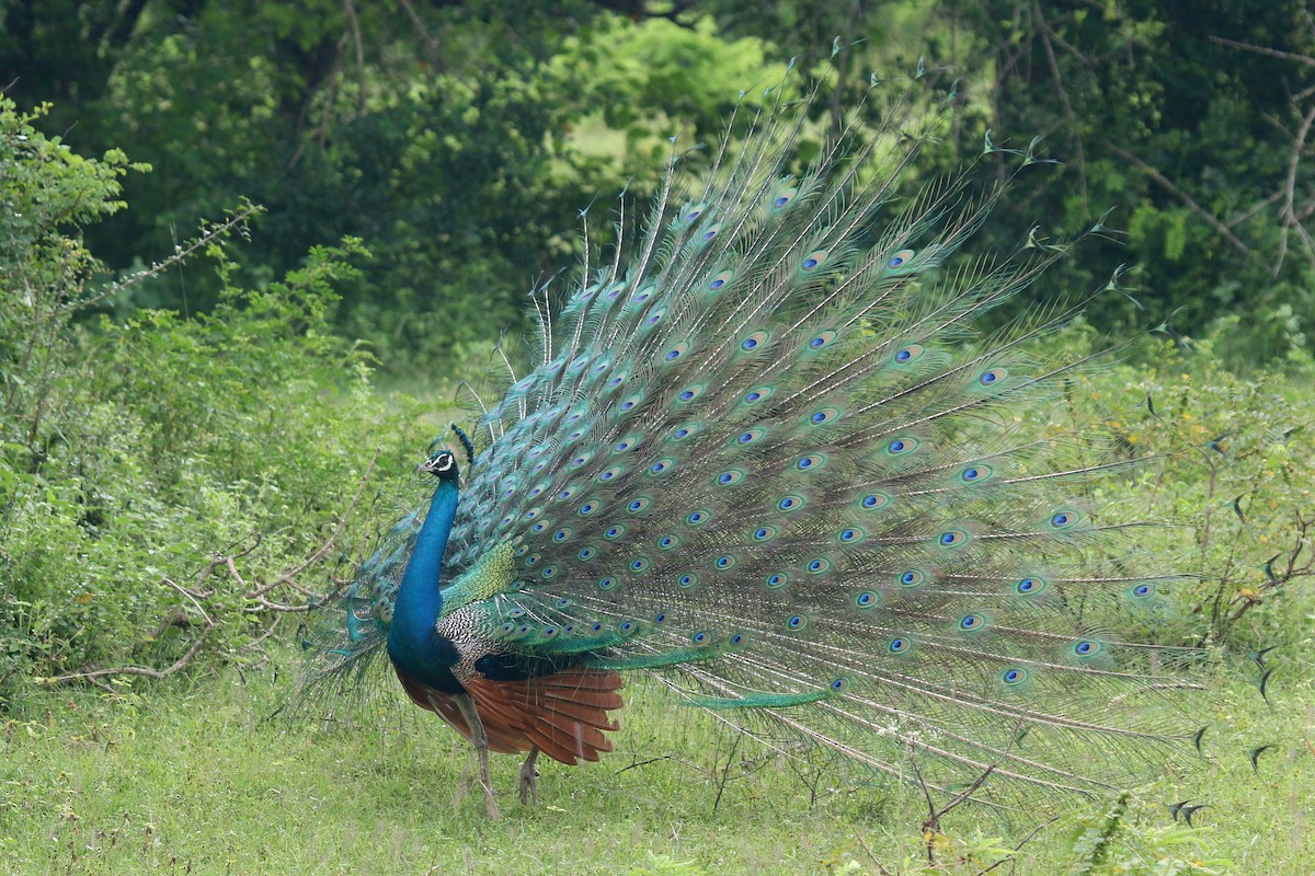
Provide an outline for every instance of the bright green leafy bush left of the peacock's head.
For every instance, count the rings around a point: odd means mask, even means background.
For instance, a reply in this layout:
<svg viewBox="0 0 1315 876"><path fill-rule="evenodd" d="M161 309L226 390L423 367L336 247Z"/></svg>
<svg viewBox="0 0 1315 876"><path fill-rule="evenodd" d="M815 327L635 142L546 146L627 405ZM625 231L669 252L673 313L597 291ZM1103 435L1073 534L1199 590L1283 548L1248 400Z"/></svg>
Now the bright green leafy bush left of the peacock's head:
<svg viewBox="0 0 1315 876"><path fill-rule="evenodd" d="M0 703L29 676L258 655L359 537L337 528L375 449L396 471L426 441L419 406L373 393L368 355L329 331L358 240L247 290L209 229L212 314L75 322L117 289L88 288L80 226L121 206L130 168L0 104L0 202L20 219L0 242Z"/></svg>

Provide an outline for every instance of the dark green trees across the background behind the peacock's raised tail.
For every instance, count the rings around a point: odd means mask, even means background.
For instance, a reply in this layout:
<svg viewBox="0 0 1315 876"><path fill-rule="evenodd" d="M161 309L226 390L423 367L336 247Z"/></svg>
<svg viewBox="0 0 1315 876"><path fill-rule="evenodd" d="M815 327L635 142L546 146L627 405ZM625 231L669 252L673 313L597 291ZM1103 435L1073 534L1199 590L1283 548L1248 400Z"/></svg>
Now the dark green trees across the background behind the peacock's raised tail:
<svg viewBox="0 0 1315 876"><path fill-rule="evenodd" d="M1315 24L1295 0L0 0L0 80L20 109L51 104L43 133L151 168L87 230L110 269L242 197L266 209L238 255L250 284L360 238L372 257L337 330L398 373L517 332L525 293L577 260L581 211L605 238L669 137L715 141L792 56L834 92L823 126L873 77L957 80L938 169L988 137L1044 138L1061 169L1020 179L981 246L1111 210L1122 232L1052 281L1137 265L1135 301L1091 314L1102 328L1184 339L1240 315L1222 348L1247 365L1302 355L1315 319ZM206 311L218 289L180 269L105 307Z"/></svg>

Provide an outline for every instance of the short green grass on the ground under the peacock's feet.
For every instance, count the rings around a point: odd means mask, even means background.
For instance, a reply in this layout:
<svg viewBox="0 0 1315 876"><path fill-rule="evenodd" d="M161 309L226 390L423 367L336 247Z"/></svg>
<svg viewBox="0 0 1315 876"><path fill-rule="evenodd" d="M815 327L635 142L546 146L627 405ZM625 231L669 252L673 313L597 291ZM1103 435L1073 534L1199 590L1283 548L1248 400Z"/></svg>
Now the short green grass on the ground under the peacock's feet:
<svg viewBox="0 0 1315 876"><path fill-rule="evenodd" d="M467 746L431 716L389 699L334 730L289 732L263 720L287 690L272 675L26 699L0 718L0 875L980 873L1048 817L1002 825L960 808L934 838L932 871L915 789L810 787L640 684L618 750L550 763L539 808L514 802L517 762L496 756L504 818L489 822L467 792ZM1212 742L1231 754L1134 796L1115 821L1109 801L1059 801L1060 821L990 872L1308 873L1311 680L1272 699L1262 708L1231 683L1231 726ZM1244 751L1258 742L1281 745L1253 775ZM1191 830L1161 805L1187 796L1210 804Z"/></svg>

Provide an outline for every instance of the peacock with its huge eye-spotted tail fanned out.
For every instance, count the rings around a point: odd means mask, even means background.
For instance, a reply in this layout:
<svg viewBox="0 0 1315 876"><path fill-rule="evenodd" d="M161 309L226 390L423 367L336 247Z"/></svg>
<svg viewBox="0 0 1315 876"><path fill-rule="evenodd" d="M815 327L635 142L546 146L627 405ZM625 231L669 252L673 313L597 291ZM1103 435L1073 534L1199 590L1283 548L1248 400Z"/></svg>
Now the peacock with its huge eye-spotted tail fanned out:
<svg viewBox="0 0 1315 876"><path fill-rule="evenodd" d="M906 192L943 116L902 99L876 126L847 116L801 169L817 123L788 91L740 101L752 134L707 150L704 181L673 150L648 217L622 208L614 251L586 232L579 281L535 292L527 373L477 440L454 426L430 448L433 494L308 645L321 692L387 654L473 745L492 817L489 753L525 753L537 800L540 754L611 750L634 672L999 805L1127 787L1199 747L1181 670L1203 653L1145 641L1184 579L1102 498L1144 460L1036 426L1107 361L1051 339L1116 278L976 330L1074 242L965 252L1003 186L969 168Z"/></svg>

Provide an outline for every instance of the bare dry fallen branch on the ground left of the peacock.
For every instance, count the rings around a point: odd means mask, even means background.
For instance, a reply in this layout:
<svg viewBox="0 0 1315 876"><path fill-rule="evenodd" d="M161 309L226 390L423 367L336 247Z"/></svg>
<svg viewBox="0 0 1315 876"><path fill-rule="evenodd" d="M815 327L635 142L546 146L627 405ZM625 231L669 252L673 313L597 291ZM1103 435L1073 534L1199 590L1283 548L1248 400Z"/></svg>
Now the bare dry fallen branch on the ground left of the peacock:
<svg viewBox="0 0 1315 876"><path fill-rule="evenodd" d="M304 561L301 561L292 569L287 569L279 575L276 575L270 584L263 584L260 587L256 587L255 590L245 592L243 599L256 602L260 604L262 608L276 612L279 616L281 616L281 613L285 612L309 611L310 608L309 604L302 604L302 605L281 604L267 599L266 594L271 592L275 587L288 586L289 588L297 591L299 594L302 594L308 598L312 596L312 592L309 590L296 583L295 577L301 574L314 563L317 563L320 559L322 559L323 556L329 553L329 550L333 548L338 537L342 536L343 529L346 529L347 527L347 520L351 517L352 511L356 508L356 503L360 500L360 495L366 489L366 483L370 479L370 474L375 470L376 460L379 460L377 448L375 449L375 454L370 458L370 465L366 468L366 473L360 477L360 482L356 486L356 493L352 495L351 502L347 503L347 507L343 510L342 515L338 519L338 525L334 527L334 531L329 535L329 538L326 538L318 548L310 552L310 554ZM243 590L247 590L249 584L246 579L242 578L242 574L238 571L237 561L249 556L252 550L256 549L256 546L259 546L259 544L260 544L260 533L254 533L251 537L251 544L246 549L239 550L237 553L216 554L196 574L196 578L192 580L191 587L184 587L183 584L179 584L178 582L170 578L160 579L162 584L172 587L183 596L185 596L188 602L191 602L192 605L196 607L196 611L201 613L201 621L204 623L204 629L196 637L196 641L193 641L191 647L188 647L187 651L180 658L178 658L172 665L162 670L153 668L150 666L112 666L108 668L99 668L99 670L80 670L78 672L55 675L43 679L43 682L46 684L67 684L70 682L99 683L97 679L113 675L145 675L146 678L160 679L174 675L179 670L184 668L200 653L201 647L205 645L205 641L209 638L210 633L214 632L216 628L214 619L210 617L209 612L206 612L204 607L204 602L214 596L216 591L203 590L205 582L210 578L210 575L214 574L217 569L222 566L225 570L227 570L233 580L235 580ZM164 621L162 621L160 632L172 625L183 625L181 624L183 619L189 619L187 611L185 609L180 611L175 608L170 613L170 616ZM277 617L275 619L275 623L277 623ZM260 642L267 640L270 634L274 632L275 623L271 623L270 629L267 629L264 634L262 634L254 642L251 642L251 645L259 645Z"/></svg>

